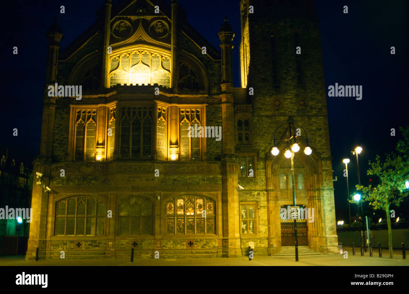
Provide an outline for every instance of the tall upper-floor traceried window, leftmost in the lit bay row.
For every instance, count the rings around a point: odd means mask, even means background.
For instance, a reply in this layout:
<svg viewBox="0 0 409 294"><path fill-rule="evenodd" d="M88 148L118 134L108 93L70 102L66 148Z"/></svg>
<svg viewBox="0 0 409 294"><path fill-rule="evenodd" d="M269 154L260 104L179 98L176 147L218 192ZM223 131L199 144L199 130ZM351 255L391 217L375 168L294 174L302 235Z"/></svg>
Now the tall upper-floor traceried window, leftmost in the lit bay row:
<svg viewBox="0 0 409 294"><path fill-rule="evenodd" d="M77 161L94 161L97 110L77 109L75 115L74 158Z"/></svg>

